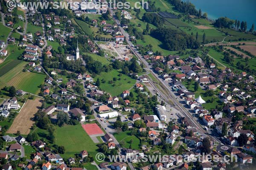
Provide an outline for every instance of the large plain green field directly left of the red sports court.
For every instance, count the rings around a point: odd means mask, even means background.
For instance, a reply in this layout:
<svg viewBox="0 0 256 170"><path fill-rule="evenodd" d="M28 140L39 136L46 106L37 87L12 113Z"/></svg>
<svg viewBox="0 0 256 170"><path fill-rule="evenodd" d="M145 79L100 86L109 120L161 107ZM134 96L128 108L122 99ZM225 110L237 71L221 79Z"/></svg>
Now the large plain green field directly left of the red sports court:
<svg viewBox="0 0 256 170"><path fill-rule="evenodd" d="M61 156L66 159L81 152L81 150L87 150L89 154L94 155L98 148L81 125L57 127L55 143L65 147L66 152Z"/></svg>

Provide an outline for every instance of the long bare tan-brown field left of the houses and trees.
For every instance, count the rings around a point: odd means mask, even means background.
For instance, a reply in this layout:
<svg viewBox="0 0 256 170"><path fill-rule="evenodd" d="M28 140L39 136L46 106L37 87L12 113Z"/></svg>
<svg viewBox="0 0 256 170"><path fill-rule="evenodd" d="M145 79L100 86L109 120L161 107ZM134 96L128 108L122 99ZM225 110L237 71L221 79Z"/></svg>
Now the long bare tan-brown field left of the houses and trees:
<svg viewBox="0 0 256 170"><path fill-rule="evenodd" d="M42 99L35 98L35 100L27 100L20 113L14 119L12 126L7 130L7 133L17 133L27 135L30 127L34 124L32 118L42 105Z"/></svg>

